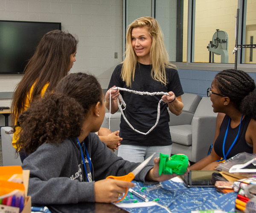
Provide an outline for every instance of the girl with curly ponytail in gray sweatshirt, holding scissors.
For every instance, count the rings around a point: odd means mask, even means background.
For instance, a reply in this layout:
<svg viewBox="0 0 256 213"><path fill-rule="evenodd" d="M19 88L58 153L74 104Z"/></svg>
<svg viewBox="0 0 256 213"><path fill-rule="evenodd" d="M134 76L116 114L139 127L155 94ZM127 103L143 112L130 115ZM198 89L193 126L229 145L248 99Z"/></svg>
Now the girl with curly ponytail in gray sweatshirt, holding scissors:
<svg viewBox="0 0 256 213"><path fill-rule="evenodd" d="M95 77L73 73L64 77L54 92L34 101L15 128L21 128L17 147L29 156L22 167L30 170L28 195L32 204L112 202L134 184L107 176L123 176L139 163L116 156L93 133L105 117L104 94ZM146 166L137 181L164 181L174 175L158 174ZM153 183L153 182L152 182Z"/></svg>

